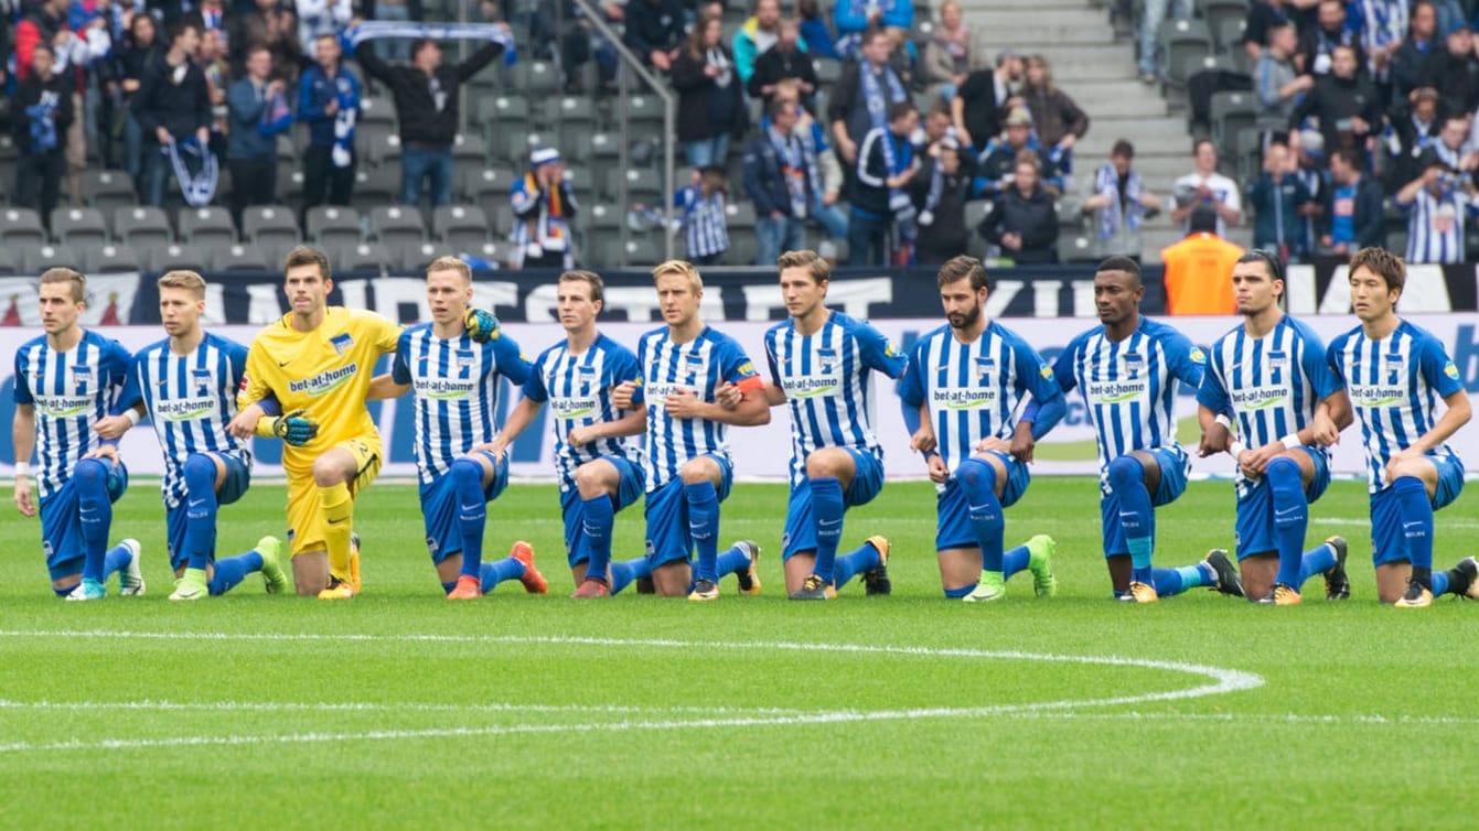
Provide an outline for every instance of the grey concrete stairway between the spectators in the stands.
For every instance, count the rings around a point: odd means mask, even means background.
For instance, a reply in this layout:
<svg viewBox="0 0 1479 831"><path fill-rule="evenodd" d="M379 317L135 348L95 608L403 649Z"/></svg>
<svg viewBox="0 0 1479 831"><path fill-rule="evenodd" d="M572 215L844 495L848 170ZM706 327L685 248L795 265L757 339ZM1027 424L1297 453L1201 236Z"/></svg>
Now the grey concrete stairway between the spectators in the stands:
<svg viewBox="0 0 1479 831"><path fill-rule="evenodd" d="M1186 118L1170 111L1160 86L1140 83L1134 41L1115 37L1108 6L1096 0L960 3L966 24L984 33L992 56L1003 49L1041 53L1053 68L1053 81L1089 114L1089 135L1074 151L1075 204L1118 139L1134 145L1134 167L1145 188L1170 200L1171 182L1192 169ZM1161 248L1180 237L1168 211L1149 220L1143 228L1145 262L1161 262ZM1232 240L1248 245L1248 228L1235 229Z"/></svg>

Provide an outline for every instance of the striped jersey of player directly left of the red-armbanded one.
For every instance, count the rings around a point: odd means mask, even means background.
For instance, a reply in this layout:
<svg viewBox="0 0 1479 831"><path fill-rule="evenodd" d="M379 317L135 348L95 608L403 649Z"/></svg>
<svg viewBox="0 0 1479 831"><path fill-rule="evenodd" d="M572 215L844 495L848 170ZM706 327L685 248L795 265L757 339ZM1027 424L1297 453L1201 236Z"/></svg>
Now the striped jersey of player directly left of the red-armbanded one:
<svg viewBox="0 0 1479 831"><path fill-rule="evenodd" d="M630 411L611 402L611 387L640 377L637 356L603 334L581 353L572 353L568 342L561 342L534 359L529 380L524 381L524 398L549 402L561 491L575 486L575 469L587 461L602 455L640 457L640 450L626 438L611 436L584 445L566 441L575 427L626 417Z"/></svg>

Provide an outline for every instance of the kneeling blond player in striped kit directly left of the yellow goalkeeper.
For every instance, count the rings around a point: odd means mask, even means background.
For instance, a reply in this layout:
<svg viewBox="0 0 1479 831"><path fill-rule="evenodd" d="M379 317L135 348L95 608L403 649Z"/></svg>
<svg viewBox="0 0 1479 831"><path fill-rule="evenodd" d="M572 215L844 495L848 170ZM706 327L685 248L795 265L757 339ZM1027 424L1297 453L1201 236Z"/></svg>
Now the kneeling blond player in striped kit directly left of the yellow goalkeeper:
<svg viewBox="0 0 1479 831"><path fill-rule="evenodd" d="M176 577L170 600L225 594L253 572L262 572L268 593L285 591L277 537L263 537L244 554L216 559L216 512L240 500L251 484L251 450L226 432L237 414L247 347L201 330L206 281L198 274L172 271L158 285L160 319L169 337L133 356L129 398L142 401L95 429L117 439L145 408L154 420L164 451L161 489Z"/></svg>

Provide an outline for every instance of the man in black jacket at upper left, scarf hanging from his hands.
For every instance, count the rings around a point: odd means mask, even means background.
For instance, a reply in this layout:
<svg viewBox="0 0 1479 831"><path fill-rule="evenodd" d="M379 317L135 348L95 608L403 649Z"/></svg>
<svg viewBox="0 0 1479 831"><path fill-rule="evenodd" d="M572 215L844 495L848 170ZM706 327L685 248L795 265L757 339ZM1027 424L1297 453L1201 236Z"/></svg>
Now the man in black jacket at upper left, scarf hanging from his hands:
<svg viewBox="0 0 1479 831"><path fill-rule="evenodd" d="M169 148L194 139L210 146L210 90L206 72L192 56L200 47L200 27L179 24L169 52L145 68L133 117L143 129L143 203L164 204L164 188L175 170Z"/></svg>

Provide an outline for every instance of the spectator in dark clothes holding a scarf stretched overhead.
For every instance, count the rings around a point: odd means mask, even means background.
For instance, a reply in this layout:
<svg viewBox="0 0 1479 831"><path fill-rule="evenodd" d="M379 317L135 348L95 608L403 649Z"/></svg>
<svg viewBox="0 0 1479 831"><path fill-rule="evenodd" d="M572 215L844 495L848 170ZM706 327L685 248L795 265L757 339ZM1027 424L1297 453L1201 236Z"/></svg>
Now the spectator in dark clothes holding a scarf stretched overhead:
<svg viewBox="0 0 1479 831"><path fill-rule="evenodd" d="M507 24L498 24L507 28ZM503 44L488 41L461 64L442 65L442 47L429 37L411 43L411 64L390 65L374 52L374 41L355 49L367 75L390 87L401 130L401 204L422 201L430 179L432 206L453 201L453 142L457 138L458 89L493 64Z"/></svg>

